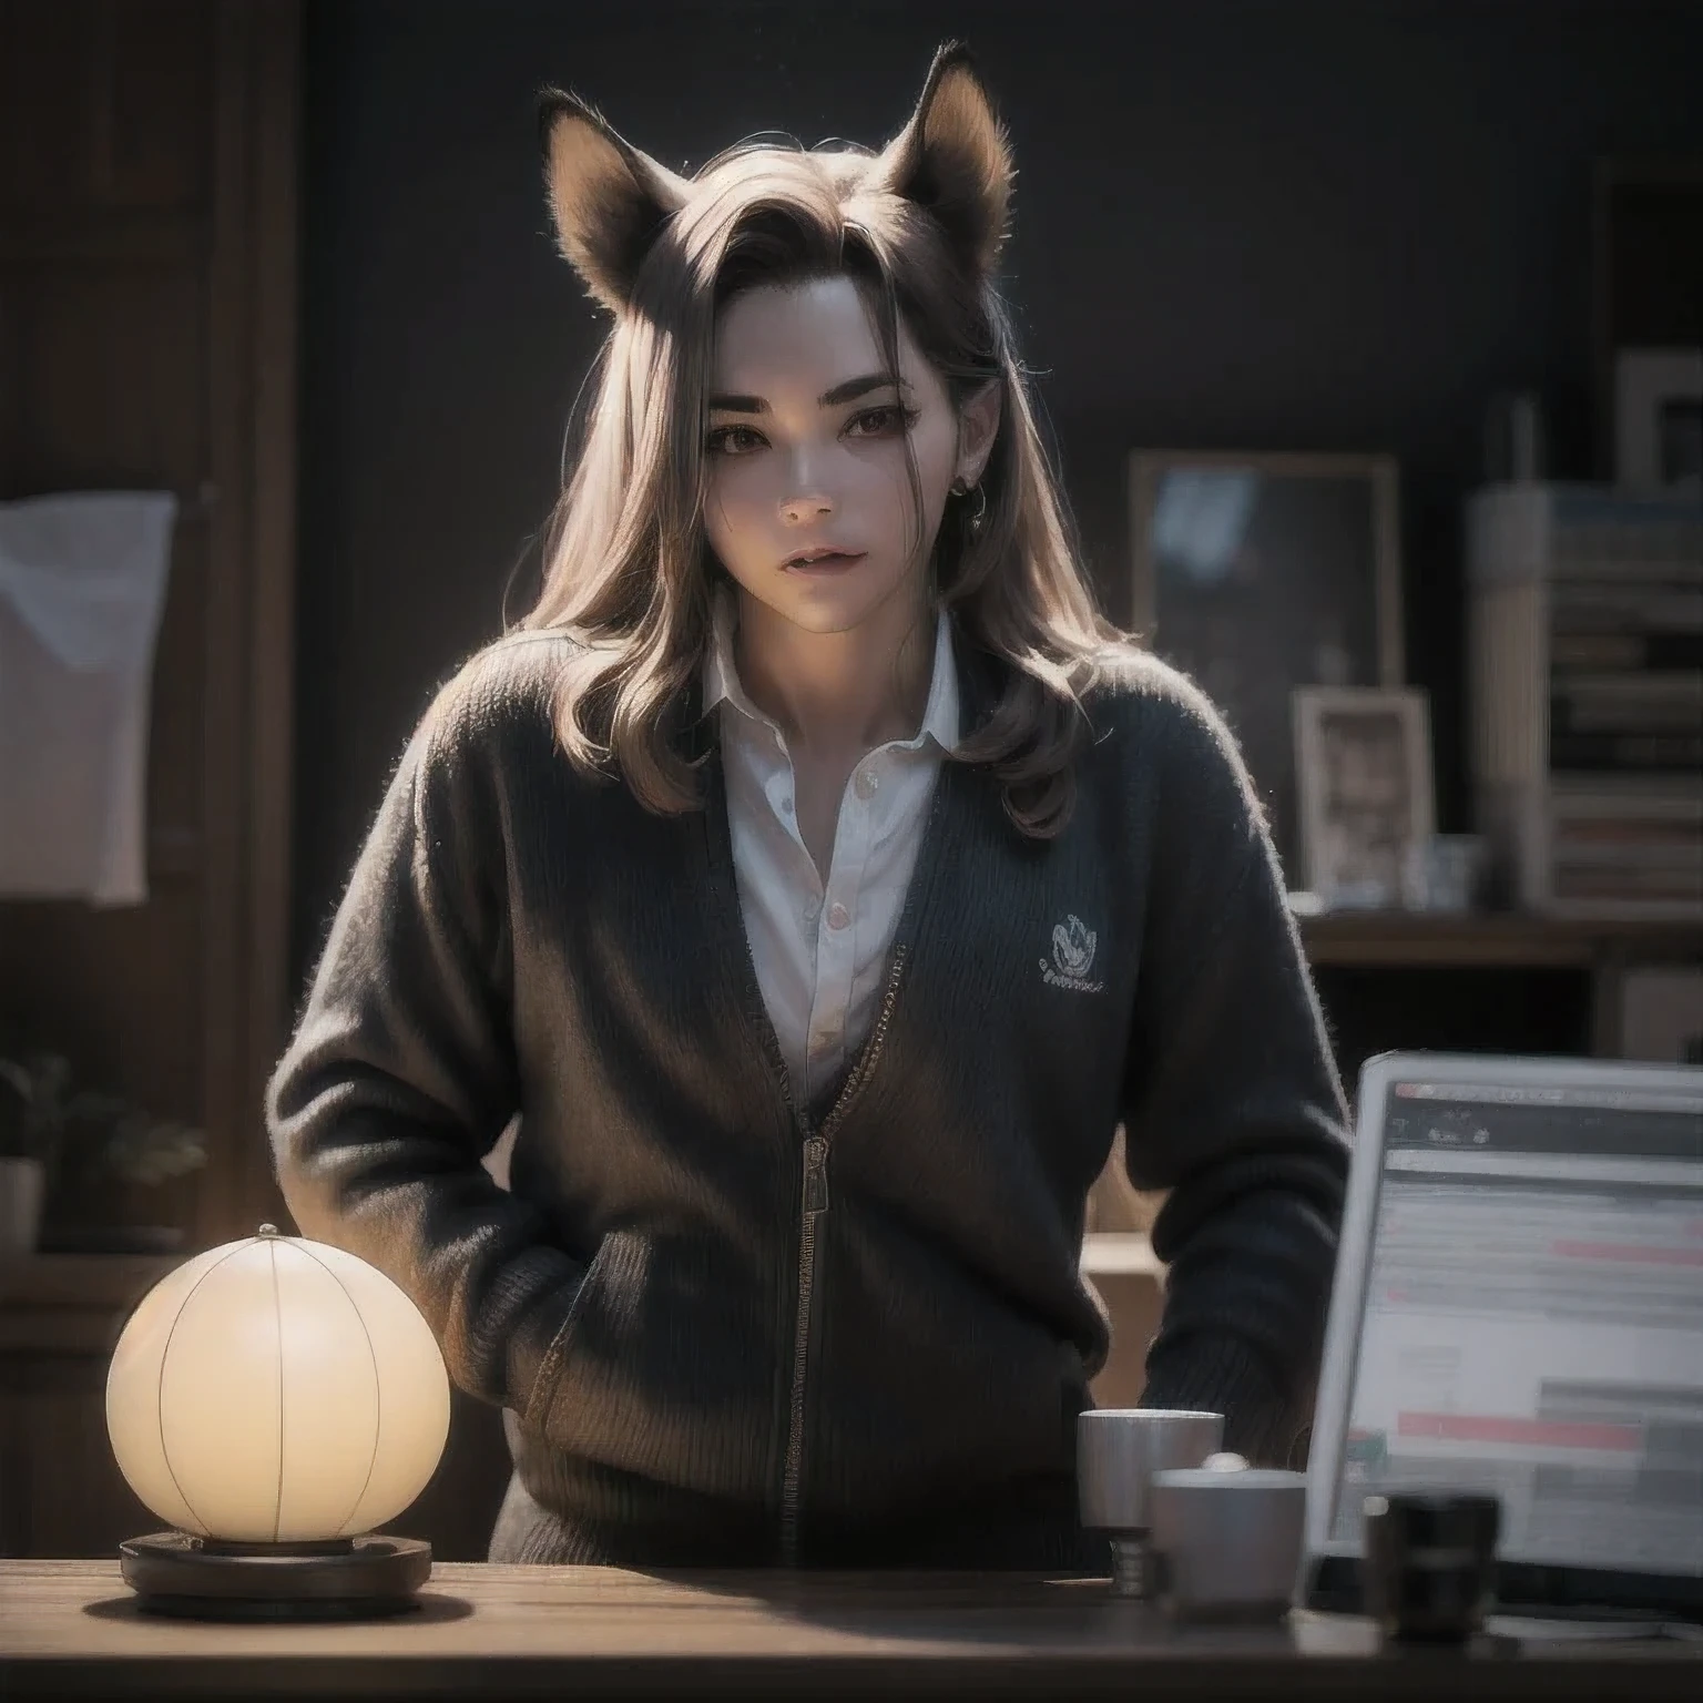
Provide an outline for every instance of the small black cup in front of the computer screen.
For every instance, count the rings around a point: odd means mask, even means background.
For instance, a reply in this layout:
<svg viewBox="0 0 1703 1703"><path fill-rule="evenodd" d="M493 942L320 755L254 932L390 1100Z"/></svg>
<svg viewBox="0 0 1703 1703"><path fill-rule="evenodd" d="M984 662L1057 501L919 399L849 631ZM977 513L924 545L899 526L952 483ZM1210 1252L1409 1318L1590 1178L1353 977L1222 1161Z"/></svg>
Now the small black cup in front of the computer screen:
<svg viewBox="0 0 1703 1703"><path fill-rule="evenodd" d="M1369 1495L1361 1550L1366 1613L1390 1638L1465 1642L1495 1599L1500 1529L1494 1495Z"/></svg>

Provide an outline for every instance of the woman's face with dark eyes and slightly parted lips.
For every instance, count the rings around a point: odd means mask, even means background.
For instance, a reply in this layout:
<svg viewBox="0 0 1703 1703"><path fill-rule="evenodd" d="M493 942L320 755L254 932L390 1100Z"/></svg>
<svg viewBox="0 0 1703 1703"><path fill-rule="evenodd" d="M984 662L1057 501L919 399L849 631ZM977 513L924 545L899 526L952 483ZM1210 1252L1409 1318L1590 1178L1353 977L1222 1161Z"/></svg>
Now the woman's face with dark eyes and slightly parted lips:
<svg viewBox="0 0 1703 1703"><path fill-rule="evenodd" d="M891 371L850 278L743 291L715 334L710 547L749 596L804 632L846 634L882 611L920 613L947 489L978 477L984 460L964 436L903 324Z"/></svg>

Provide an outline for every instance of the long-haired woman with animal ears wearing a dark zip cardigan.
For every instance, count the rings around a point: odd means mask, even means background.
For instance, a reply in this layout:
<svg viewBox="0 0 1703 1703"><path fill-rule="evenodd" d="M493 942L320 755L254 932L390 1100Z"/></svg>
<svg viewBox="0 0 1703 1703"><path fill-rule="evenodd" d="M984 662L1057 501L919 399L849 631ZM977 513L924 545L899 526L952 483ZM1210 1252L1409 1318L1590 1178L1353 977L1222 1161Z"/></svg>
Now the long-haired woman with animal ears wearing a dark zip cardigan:
<svg viewBox="0 0 1703 1703"><path fill-rule="evenodd" d="M1071 552L1005 135L949 48L879 153L688 179L562 94L543 143L613 327L538 605L409 743L272 1078L286 1202L504 1408L492 1560L1105 1572L1115 1127L1144 1400L1282 1463L1345 1114L1236 746Z"/></svg>

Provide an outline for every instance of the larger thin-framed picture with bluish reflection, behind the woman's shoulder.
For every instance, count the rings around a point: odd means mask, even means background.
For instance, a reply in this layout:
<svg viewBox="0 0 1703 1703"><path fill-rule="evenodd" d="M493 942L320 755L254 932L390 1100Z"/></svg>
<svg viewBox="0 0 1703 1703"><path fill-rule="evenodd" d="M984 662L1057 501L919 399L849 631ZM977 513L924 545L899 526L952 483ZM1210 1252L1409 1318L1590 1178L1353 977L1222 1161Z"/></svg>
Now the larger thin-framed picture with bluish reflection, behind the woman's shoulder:
<svg viewBox="0 0 1703 1703"><path fill-rule="evenodd" d="M1291 693L1403 681L1395 460L1138 450L1129 507L1136 634L1224 714L1293 865Z"/></svg>

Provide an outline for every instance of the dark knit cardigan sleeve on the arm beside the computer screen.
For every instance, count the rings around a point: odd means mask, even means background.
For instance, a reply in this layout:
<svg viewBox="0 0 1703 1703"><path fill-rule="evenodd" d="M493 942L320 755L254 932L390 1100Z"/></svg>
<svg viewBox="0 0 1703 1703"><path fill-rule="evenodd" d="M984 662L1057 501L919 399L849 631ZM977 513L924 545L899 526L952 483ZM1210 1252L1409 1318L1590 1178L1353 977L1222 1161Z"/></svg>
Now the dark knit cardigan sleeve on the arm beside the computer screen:
<svg viewBox="0 0 1703 1703"><path fill-rule="evenodd" d="M1146 1407L1224 1415L1224 1448L1304 1456L1349 1143L1323 1017L1235 741L1192 688L1151 705L1155 853L1126 1068L1126 1158L1167 1190Z"/></svg>

